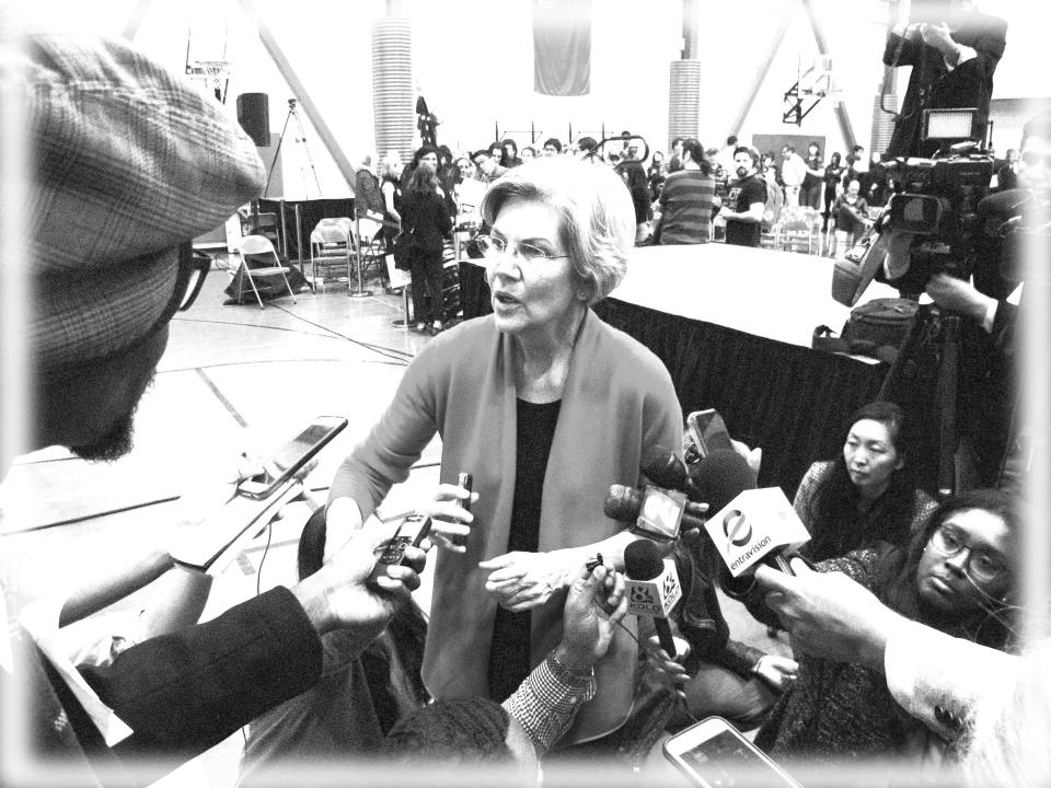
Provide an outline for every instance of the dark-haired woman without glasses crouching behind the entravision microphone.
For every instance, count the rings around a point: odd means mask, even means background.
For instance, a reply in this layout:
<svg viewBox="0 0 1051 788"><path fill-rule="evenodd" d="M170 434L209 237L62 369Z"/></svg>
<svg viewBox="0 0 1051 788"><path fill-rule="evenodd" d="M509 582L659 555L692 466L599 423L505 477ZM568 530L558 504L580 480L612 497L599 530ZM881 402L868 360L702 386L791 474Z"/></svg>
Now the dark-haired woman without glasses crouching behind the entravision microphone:
<svg viewBox="0 0 1051 788"><path fill-rule="evenodd" d="M802 553L824 560L879 541L904 544L934 510L905 473L904 412L876 401L851 416L843 451L807 471L793 506L810 532Z"/></svg>

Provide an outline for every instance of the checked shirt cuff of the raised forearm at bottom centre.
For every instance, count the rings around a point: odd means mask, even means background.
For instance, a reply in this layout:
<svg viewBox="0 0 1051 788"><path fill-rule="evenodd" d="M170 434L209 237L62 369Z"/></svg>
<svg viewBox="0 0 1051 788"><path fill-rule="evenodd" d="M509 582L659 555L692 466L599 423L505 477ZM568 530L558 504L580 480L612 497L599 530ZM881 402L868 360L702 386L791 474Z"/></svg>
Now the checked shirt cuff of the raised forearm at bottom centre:
<svg viewBox="0 0 1051 788"><path fill-rule="evenodd" d="M548 654L504 702L538 753L550 750L573 725L580 707L594 697L594 671L574 673Z"/></svg>

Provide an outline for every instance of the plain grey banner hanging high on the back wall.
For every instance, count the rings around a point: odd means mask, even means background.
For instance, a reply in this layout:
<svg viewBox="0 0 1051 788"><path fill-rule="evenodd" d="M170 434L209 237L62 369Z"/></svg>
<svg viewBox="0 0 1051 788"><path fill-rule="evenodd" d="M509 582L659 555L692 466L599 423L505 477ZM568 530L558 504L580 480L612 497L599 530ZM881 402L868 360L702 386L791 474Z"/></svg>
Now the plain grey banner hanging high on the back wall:
<svg viewBox="0 0 1051 788"><path fill-rule="evenodd" d="M591 92L591 0L533 0L533 90Z"/></svg>

